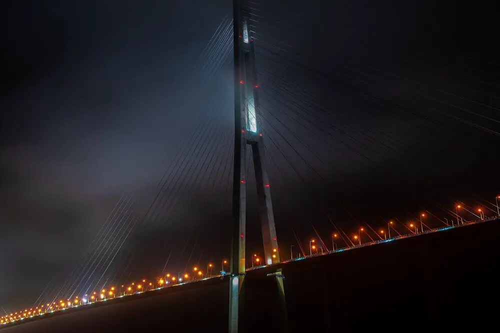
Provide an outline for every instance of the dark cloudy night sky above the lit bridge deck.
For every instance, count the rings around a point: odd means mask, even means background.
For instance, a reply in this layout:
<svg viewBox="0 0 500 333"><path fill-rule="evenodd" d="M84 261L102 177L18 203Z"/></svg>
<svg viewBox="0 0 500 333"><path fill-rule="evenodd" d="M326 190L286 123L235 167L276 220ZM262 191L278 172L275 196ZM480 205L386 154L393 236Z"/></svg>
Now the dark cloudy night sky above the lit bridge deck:
<svg viewBox="0 0 500 333"><path fill-rule="evenodd" d="M325 211L351 234L425 209L448 216L437 204L494 200L494 10L481 1L252 2L282 252L298 251L291 227L304 247L317 237L311 222L329 244ZM140 223L109 268L122 283L165 263L177 273L227 258L232 53L211 75L203 49L231 1L4 1L1 11L0 305L30 306L63 283L123 193L140 198L131 214ZM189 161L185 177L175 174ZM143 218L168 167L176 182L159 204L174 204ZM248 200L247 251L260 253L251 186Z"/></svg>

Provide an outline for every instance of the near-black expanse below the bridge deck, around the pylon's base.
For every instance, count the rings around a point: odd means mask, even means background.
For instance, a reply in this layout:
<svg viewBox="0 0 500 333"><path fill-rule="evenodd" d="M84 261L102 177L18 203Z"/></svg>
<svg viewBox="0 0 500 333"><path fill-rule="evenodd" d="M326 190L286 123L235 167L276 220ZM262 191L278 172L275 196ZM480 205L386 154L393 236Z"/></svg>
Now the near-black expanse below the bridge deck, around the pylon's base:
<svg viewBox="0 0 500 333"><path fill-rule="evenodd" d="M499 221L249 270L246 332L480 331L496 325ZM286 309L274 277L282 268ZM24 332L224 332L228 276L2 325Z"/></svg>

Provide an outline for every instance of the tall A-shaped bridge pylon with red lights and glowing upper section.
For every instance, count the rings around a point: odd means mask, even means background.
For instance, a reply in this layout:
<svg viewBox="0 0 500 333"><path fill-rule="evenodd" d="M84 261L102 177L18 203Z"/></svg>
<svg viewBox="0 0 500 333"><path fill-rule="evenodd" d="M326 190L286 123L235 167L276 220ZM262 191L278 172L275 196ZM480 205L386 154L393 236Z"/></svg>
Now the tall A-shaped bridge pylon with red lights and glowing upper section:
<svg viewBox="0 0 500 333"><path fill-rule="evenodd" d="M242 0L233 0L234 45L234 177L232 194L232 249L229 301L229 332L238 332L238 312L241 312L243 279L245 275L245 217L246 217L246 149L253 155L257 185L258 211L264 262L279 262L279 247L274 226L269 179L264 166L264 144L260 130L258 81L255 72L255 53L250 31L250 14L242 10ZM241 313L239 313L241 314Z"/></svg>

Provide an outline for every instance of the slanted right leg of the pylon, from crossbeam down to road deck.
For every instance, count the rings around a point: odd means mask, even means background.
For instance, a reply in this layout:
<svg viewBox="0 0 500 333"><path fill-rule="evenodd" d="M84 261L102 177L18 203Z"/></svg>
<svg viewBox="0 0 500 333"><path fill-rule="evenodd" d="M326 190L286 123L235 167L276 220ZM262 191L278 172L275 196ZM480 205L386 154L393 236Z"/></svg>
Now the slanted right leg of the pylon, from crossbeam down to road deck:
<svg viewBox="0 0 500 333"><path fill-rule="evenodd" d="M255 180L257 183L258 212L260 215L260 226L262 228L265 263L271 264L279 262L279 249L276 240L276 227L274 226L270 184L263 163L265 153L262 139L260 138L256 142L252 142L251 147L253 152L253 165L255 168Z"/></svg>

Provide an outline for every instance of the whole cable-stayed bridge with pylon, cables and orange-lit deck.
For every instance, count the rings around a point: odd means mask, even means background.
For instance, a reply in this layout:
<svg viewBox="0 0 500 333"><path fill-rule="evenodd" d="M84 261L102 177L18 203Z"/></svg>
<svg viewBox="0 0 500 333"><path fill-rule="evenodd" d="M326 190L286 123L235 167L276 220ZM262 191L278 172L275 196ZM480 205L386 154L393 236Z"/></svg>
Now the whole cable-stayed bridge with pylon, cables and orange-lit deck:
<svg viewBox="0 0 500 333"><path fill-rule="evenodd" d="M196 113L191 128L178 134L164 163L151 176L147 190L140 193L125 190L69 274L61 274L65 276L62 280L60 276L54 277L29 308L5 311L2 323L27 321L38 314L83 305L90 307L126 298L125 295L136 297L172 285L220 279L228 280L229 330L237 331L240 293L248 270L266 269L266 276L269 274L276 281L275 291L281 296L275 301L283 304L286 299L280 264L283 261L296 262L363 247L366 243L386 243L408 235L458 229L499 214L497 201L471 196L463 201L452 199L453 205L438 205L436 209L412 208L420 211L407 211L406 216L410 217L404 220L381 217L376 223L366 222L344 207L355 227L347 229L339 225L328 208L331 197L325 190L341 183L333 174L343 174L355 187L360 181L355 179L356 172L368 169L367 178L387 180L392 185L401 180L397 173L400 169L409 174L421 170L431 174L449 169L452 162L464 163L463 157L458 161L426 162L429 148L420 144L420 139L425 136L434 140L444 135L449 140L447 144L462 148L466 141L497 140L495 86L477 76L455 80L453 74L457 72L436 64L431 66L432 70L443 75L443 82L453 80L452 89L442 82L428 84L414 72L394 71L394 67L344 64L341 70L317 68L313 60L297 52L287 39L290 31L294 31L292 23L296 23L290 22L292 15L286 15L285 8L277 10L281 16L266 9L269 8L262 3L236 2L232 18L222 19L198 57L207 82L221 69L233 68L234 118L227 121L224 112L210 108ZM474 65L460 68L467 72L483 71L484 76L489 75L489 70L483 70L485 67L495 66L476 59L469 63ZM378 84L380 81L385 84ZM401 89L402 84L406 91ZM407 93L408 89L420 94L414 96ZM371 117L356 109L366 106L361 100L372 107ZM226 126L232 122L232 128ZM382 163L387 160L388 163ZM318 184L321 190L316 191ZM294 191L310 197L299 202ZM211 222L208 227L221 229L219 238L210 241L220 242L230 237L230 252L203 253L210 252L203 230L181 241L165 239L167 235L158 232L167 231L161 229L167 220L189 224L189 214L180 212L194 204L204 211L206 207L231 203L232 229L220 220L214 221L215 217L206 216ZM300 204L309 205L310 210L297 209ZM276 209L279 206L281 209ZM283 213L283 210L288 211ZM294 216L297 212L299 218ZM328 223L331 231L327 234L316 229L318 215ZM257 232L251 226L258 225L254 223L256 220L260 220ZM308 231L312 238L305 239L303 229L296 230L297 220L312 230ZM296 241L282 244L278 238L280 225L291 230ZM255 238L256 233L261 233L263 248L253 246L258 250L245 251L246 239ZM144 242L149 243L147 248L141 248ZM155 252L151 253L151 249ZM175 252L180 255L171 258ZM152 273L144 269L157 267L158 257L162 259L162 267ZM269 269L272 271L267 272Z"/></svg>

